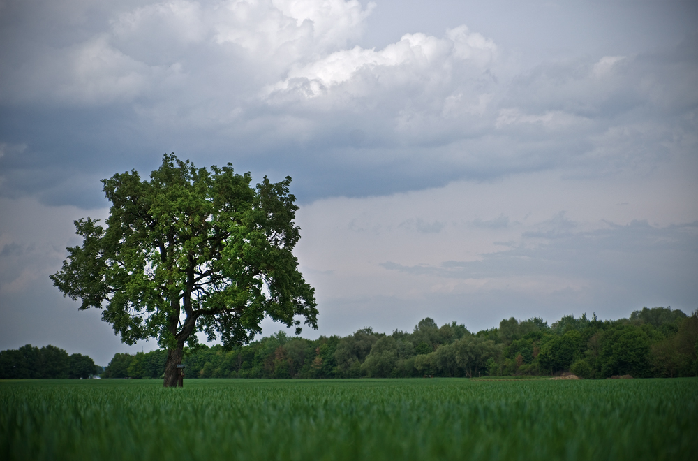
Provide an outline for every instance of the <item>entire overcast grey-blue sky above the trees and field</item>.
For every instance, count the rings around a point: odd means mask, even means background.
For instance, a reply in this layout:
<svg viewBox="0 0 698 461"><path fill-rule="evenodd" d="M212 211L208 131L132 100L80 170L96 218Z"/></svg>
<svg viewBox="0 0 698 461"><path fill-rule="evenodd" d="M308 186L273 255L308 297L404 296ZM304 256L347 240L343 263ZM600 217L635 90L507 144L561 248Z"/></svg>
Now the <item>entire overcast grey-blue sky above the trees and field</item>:
<svg viewBox="0 0 698 461"><path fill-rule="evenodd" d="M304 337L692 312L697 24L671 0L0 0L0 349L156 347L48 276L107 215L99 180L165 152L292 176Z"/></svg>

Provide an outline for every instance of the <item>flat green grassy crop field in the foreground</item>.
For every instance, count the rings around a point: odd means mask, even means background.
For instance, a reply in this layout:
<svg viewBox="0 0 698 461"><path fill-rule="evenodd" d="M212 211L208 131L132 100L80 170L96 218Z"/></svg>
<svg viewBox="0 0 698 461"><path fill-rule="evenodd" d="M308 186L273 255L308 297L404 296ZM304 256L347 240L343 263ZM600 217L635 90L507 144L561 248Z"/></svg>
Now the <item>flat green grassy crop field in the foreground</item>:
<svg viewBox="0 0 698 461"><path fill-rule="evenodd" d="M695 460L698 380L0 381L3 460Z"/></svg>

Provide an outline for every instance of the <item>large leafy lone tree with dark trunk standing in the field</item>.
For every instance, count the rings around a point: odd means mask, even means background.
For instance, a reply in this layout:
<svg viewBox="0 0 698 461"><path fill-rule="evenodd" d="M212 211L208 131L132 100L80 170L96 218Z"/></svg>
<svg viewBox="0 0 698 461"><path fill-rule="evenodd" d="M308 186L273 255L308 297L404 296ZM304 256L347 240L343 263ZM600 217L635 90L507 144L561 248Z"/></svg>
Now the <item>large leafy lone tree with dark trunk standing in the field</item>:
<svg viewBox="0 0 698 461"><path fill-rule="evenodd" d="M80 310L104 309L121 341L156 337L168 349L165 387L194 332L224 346L249 342L269 316L317 328L315 290L297 270L297 205L290 177L250 185L232 165L194 168L174 154L141 180L135 170L102 180L112 203L106 227L75 221L81 247L67 248L54 285Z"/></svg>

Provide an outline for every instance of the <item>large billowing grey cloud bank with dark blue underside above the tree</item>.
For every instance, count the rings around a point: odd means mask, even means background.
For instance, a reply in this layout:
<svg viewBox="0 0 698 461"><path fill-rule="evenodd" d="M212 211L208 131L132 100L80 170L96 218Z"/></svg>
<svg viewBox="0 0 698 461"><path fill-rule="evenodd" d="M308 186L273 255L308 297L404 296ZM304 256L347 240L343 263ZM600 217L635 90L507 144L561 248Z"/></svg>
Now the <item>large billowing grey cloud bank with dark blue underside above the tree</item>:
<svg viewBox="0 0 698 461"><path fill-rule="evenodd" d="M292 173L300 196L312 199L547 168L653 168L676 154L669 138L696 147L695 35L662 52L572 57L521 72L495 38L463 24L380 49L356 45L376 8L356 0L69 5L30 14L6 4L6 24L20 17L31 26L6 31L23 45L5 42L0 101L4 117L19 106L24 121L8 123L3 137L29 150L6 155L6 172L21 175L29 159L50 157L69 176L77 171L62 159L96 152L106 165L78 168L124 168L158 145L158 153L231 156ZM25 41L48 15L56 36ZM37 117L72 123L47 133L46 124L29 126ZM115 124L128 142L100 146L103 138L84 136ZM47 138L64 142L46 146ZM154 156L138 162L153 166ZM4 193L10 187L6 180Z"/></svg>

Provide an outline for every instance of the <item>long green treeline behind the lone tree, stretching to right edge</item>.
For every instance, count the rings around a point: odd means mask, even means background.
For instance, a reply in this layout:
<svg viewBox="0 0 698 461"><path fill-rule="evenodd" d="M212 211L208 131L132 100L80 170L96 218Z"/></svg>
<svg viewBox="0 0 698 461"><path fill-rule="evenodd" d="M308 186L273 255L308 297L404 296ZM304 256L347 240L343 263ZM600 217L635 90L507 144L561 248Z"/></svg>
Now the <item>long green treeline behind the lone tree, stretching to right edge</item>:
<svg viewBox="0 0 698 461"><path fill-rule="evenodd" d="M413 332L362 328L311 341L283 332L226 351L185 350L187 378L359 378L521 376L572 372L586 379L697 376L698 314L644 307L629 319L565 316L505 319L471 333L456 322L423 319ZM105 378L161 378L166 351L117 353Z"/></svg>

